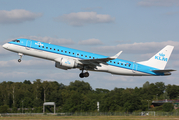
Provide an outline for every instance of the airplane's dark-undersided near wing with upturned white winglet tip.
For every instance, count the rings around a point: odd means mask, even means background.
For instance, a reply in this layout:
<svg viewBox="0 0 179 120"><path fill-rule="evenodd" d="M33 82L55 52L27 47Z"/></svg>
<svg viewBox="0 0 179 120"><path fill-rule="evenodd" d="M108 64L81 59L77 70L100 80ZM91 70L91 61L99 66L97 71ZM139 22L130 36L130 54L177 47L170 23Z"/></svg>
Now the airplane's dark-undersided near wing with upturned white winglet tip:
<svg viewBox="0 0 179 120"><path fill-rule="evenodd" d="M99 65L100 63L106 63L110 60L114 60L116 58L119 57L119 55L122 53L122 51L120 51L119 53L117 53L116 55L112 56L112 57L108 57L108 58L97 58L97 59L84 59L84 60L79 60L82 64L86 64L86 65Z"/></svg>

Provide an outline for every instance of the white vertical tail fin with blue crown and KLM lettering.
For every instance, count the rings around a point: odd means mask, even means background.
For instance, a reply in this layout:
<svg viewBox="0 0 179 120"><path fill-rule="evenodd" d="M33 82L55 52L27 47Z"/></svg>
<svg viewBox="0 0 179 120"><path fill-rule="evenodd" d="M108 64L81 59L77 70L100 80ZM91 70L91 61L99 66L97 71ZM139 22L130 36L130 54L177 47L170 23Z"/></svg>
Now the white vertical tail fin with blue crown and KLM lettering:
<svg viewBox="0 0 179 120"><path fill-rule="evenodd" d="M174 46L167 45L161 51L155 54L152 58L150 58L148 61L142 61L138 63L163 70L170 58L173 48Z"/></svg>

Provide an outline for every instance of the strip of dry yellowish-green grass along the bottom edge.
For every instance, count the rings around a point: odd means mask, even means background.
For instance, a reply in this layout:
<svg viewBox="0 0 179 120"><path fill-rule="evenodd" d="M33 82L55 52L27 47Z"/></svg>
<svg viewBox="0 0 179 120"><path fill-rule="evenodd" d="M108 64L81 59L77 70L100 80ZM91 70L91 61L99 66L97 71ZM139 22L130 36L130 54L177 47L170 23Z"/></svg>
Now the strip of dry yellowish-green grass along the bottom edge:
<svg viewBox="0 0 179 120"><path fill-rule="evenodd" d="M6 116L0 120L179 120L176 116Z"/></svg>

